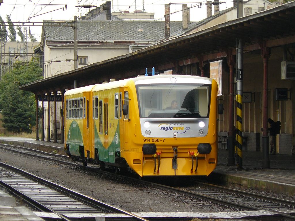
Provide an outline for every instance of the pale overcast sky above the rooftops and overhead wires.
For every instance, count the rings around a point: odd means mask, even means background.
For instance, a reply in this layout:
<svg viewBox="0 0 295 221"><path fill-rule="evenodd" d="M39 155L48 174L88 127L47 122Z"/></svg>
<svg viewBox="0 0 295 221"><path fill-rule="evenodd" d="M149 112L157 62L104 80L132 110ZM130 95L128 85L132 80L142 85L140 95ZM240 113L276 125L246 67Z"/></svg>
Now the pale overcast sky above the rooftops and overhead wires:
<svg viewBox="0 0 295 221"><path fill-rule="evenodd" d="M164 20L164 4L171 3L170 13L179 11L182 9L181 4L188 4L188 6L199 5L200 1L190 0L144 0L144 9L146 12L154 12L155 19ZM99 6L105 1L101 0L81 0L80 5L96 5ZM220 4L220 10L232 7L231 0L224 0L223 4ZM179 3L179 4L174 4ZM190 11L191 21L199 21L206 18L206 1L202 1L201 8L192 7ZM50 5L47 5L50 4ZM60 4L60 5L57 5ZM65 9L67 4L67 9ZM0 6L0 15L4 21L6 21L6 14L11 17L13 22L42 22L43 20L73 20L74 15L77 15L78 0L4 0L4 3ZM130 8L129 8L130 7ZM63 9L60 9L63 8ZM58 10L56 10L58 9ZM93 8L92 8L93 9ZM135 9L143 9L143 0L114 0L112 2L111 11L127 10L133 12ZM55 10L55 11L53 11ZM50 12L51 11L51 12ZM89 9L80 9L80 16L85 15ZM48 13L46 13L48 12ZM43 14L45 13L45 14ZM171 21L181 21L182 12L177 12L171 15ZM21 25L21 24L20 24ZM25 26L23 26L25 27ZM22 27L22 30L23 30ZM29 27L27 27L29 28ZM37 41L40 41L41 27L30 27L31 34L35 36ZM7 28L8 30L8 28ZM18 38L18 37L17 37Z"/></svg>

